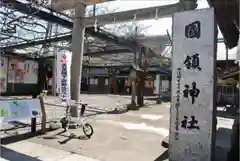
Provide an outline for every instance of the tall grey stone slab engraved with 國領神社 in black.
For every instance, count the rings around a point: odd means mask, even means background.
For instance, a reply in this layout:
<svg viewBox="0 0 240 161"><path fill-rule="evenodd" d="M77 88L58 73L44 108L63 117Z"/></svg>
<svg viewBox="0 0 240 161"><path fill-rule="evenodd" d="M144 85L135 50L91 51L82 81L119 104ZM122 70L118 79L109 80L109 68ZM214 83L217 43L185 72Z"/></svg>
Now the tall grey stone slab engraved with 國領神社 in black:
<svg viewBox="0 0 240 161"><path fill-rule="evenodd" d="M173 15L171 161L211 161L215 29L213 8Z"/></svg>

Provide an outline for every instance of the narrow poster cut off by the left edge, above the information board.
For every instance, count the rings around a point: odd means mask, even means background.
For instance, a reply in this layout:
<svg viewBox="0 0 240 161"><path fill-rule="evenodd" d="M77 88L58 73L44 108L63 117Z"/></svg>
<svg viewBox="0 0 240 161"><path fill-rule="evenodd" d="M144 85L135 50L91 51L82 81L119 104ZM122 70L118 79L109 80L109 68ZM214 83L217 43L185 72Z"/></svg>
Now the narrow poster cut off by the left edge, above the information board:
<svg viewBox="0 0 240 161"><path fill-rule="evenodd" d="M7 91L7 63L8 58L2 57L0 59L0 93Z"/></svg>

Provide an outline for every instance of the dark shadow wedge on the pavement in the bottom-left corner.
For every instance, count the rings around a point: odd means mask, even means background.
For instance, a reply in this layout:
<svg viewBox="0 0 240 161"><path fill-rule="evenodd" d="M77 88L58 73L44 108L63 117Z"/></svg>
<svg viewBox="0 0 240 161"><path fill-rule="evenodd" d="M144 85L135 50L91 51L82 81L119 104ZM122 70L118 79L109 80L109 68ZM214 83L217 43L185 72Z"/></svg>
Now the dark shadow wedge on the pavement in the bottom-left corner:
<svg viewBox="0 0 240 161"><path fill-rule="evenodd" d="M10 160L10 161L42 161L37 158L30 157L28 155L16 152L14 150L8 149L6 147L0 147L1 158Z"/></svg>

